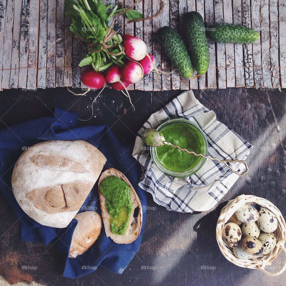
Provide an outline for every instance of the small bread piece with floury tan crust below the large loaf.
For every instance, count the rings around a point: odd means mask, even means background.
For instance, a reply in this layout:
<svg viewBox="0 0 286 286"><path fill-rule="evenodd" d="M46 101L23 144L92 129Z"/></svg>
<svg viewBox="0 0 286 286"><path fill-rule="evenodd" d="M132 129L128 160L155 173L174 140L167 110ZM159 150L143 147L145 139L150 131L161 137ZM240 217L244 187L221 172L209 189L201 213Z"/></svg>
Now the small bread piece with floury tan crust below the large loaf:
<svg viewBox="0 0 286 286"><path fill-rule="evenodd" d="M69 257L76 258L94 244L100 235L101 217L97 212L82 212L74 217L78 223L71 239Z"/></svg>

